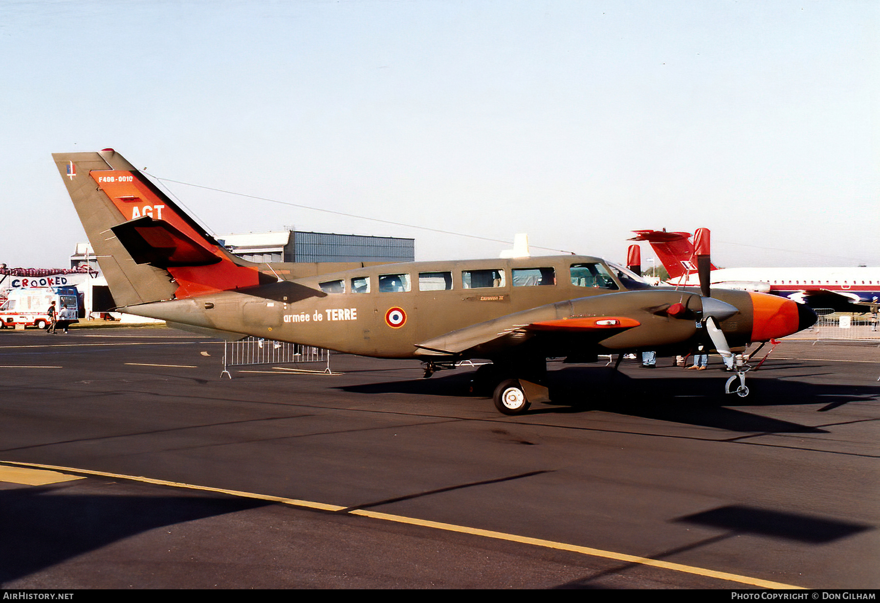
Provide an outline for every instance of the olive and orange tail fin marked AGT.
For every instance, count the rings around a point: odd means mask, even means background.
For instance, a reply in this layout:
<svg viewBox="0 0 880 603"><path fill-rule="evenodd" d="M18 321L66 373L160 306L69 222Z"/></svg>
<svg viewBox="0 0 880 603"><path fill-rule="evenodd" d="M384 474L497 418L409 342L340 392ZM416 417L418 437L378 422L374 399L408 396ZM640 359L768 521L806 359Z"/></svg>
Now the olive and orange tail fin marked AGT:
<svg viewBox="0 0 880 603"><path fill-rule="evenodd" d="M265 280L255 265L229 254L116 151L52 157L118 306Z"/></svg>

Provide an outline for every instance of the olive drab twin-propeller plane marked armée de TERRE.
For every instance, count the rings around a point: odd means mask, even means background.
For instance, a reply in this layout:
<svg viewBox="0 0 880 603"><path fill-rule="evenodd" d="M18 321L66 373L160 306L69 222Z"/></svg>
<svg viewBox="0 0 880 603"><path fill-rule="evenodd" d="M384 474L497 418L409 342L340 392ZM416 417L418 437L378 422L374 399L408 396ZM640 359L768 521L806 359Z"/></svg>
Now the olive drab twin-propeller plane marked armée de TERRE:
<svg viewBox="0 0 880 603"><path fill-rule="evenodd" d="M548 401L546 360L731 348L809 327L788 299L658 289L627 268L563 255L368 265L254 263L231 254L112 149L53 156L117 308L172 326L380 358L426 376L469 358L507 415ZM700 242L708 270L708 232ZM737 367L748 393L743 367ZM732 379L732 378L731 378ZM728 382L730 386L730 380Z"/></svg>

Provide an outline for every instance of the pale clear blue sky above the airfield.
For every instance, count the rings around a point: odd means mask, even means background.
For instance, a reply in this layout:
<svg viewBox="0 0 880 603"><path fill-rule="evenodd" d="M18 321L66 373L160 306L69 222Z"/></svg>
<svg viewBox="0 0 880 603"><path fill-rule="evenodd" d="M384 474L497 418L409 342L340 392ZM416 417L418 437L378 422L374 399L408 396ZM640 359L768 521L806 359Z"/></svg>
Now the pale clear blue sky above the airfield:
<svg viewBox="0 0 880 603"><path fill-rule="evenodd" d="M705 226L725 267L880 265L878 34L876 0L4 0L0 261L67 265L84 232L50 153L113 147L616 261L634 229ZM510 247L168 186L216 233Z"/></svg>

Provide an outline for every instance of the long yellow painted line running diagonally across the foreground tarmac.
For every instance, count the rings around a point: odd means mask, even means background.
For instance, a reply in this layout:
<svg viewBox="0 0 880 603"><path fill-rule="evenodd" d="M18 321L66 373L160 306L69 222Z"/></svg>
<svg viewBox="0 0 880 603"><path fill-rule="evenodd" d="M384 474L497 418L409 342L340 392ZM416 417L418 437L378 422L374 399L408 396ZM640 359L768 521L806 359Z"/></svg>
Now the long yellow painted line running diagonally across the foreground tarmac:
<svg viewBox="0 0 880 603"><path fill-rule="evenodd" d="M221 488L210 488L208 486L196 486L194 484L180 482L166 482L165 480L154 480L150 477L138 477L134 475L111 474L103 471L92 471L88 469L74 469L70 467L56 467L55 465L40 465L37 463L19 463L16 461L2 460L0 463L10 465L18 465L24 467L40 467L44 469L52 469L59 471L70 471L72 473L98 475L100 477L112 477L120 480L132 480L135 482L152 483L159 486L172 486L174 488L186 488L194 490L202 490L205 492L217 492L220 494L228 494L231 496L241 496L244 498L253 498L256 500L266 500L275 503L290 504L291 506L304 507L307 509L318 509L319 511L344 511L347 507L337 506L335 504L312 503L295 498L284 498L282 496L268 496L265 494L254 494L253 492L241 492L238 490L227 490ZM803 586L786 585L781 582L772 582L770 580L762 580L757 577L741 576L739 574L730 574L726 571L706 570L693 565L684 565L682 563L671 563L660 561L657 559L649 559L648 557L639 557L636 555L626 555L624 553L615 553L613 551L605 551L600 548L582 547L576 544L568 544L565 542L556 542L554 540L543 540L540 538L530 538L528 536L519 536L504 532L494 532L492 530L483 530L477 527L456 526L455 524L444 524L439 521L429 521L427 519L409 518L403 515L392 515L390 513L381 513L378 511L367 511L363 509L353 509L348 511L351 515L372 519L383 519L385 521L393 521L400 524L408 524L410 526L430 527L436 530L444 530L446 532L466 533L484 538L493 538L495 540L508 540L510 542L519 542L535 547L554 548L557 550L579 553L581 555L590 555L593 557L602 557L604 559L613 559L626 563L638 563L640 565L648 565L650 567L662 570L680 571L695 576L713 577L718 580L726 580L728 582L737 582L743 585L757 586L759 588L784 589L784 590L804 590Z"/></svg>

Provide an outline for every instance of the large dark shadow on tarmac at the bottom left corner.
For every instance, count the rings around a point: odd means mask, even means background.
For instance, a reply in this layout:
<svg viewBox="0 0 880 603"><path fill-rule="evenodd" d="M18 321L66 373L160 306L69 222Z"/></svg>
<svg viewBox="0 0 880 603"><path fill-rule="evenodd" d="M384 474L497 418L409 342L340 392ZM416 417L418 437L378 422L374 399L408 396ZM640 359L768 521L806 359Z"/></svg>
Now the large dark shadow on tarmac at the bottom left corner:
<svg viewBox="0 0 880 603"><path fill-rule="evenodd" d="M0 585L138 533L265 506L225 496L93 496L0 490Z"/></svg>

